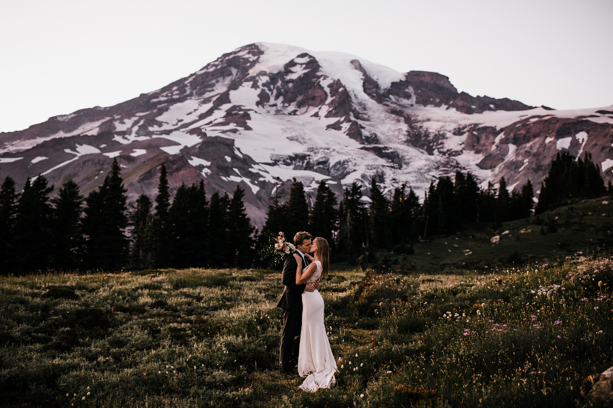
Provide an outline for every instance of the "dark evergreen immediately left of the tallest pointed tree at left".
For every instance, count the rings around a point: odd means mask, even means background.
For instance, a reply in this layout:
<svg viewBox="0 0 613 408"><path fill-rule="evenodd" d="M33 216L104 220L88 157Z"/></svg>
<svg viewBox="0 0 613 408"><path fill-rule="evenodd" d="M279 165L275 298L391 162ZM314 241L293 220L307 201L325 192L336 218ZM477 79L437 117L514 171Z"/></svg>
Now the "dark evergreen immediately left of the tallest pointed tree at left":
<svg viewBox="0 0 613 408"><path fill-rule="evenodd" d="M83 196L77 183L66 181L51 199L53 203L53 251L51 263L56 270L76 270L83 260L81 213Z"/></svg>

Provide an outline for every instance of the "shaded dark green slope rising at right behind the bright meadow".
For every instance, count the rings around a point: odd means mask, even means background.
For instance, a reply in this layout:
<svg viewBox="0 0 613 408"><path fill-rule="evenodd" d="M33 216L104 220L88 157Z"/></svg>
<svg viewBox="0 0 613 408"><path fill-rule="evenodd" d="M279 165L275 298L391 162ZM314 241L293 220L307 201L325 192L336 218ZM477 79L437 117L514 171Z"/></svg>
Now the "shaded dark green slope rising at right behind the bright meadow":
<svg viewBox="0 0 613 408"><path fill-rule="evenodd" d="M576 200L570 205L524 220L473 224L451 236L414 244L414 268L429 273L462 270L491 271L525 264L543 265L579 260L611 252L613 201L602 197ZM492 243L494 236L500 241ZM398 254L377 254L375 269L398 269Z"/></svg>

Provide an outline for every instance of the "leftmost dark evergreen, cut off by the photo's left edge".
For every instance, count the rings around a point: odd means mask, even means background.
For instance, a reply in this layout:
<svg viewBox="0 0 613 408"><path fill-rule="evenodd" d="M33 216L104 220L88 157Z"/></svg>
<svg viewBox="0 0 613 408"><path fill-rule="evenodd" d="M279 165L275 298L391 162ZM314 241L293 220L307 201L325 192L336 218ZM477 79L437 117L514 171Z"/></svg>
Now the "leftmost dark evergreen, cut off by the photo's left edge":
<svg viewBox="0 0 613 408"><path fill-rule="evenodd" d="M0 270L8 272L13 266L13 237L17 200L15 180L7 176L0 187Z"/></svg>

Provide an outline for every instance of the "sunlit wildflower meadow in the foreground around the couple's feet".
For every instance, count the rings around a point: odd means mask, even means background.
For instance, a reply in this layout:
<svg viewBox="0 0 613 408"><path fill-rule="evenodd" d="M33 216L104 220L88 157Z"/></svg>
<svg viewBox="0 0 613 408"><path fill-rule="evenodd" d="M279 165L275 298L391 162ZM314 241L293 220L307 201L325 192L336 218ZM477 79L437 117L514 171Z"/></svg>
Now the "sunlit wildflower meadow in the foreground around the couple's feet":
<svg viewBox="0 0 613 408"><path fill-rule="evenodd" d="M613 365L612 267L332 271L322 295L340 371L314 394L278 374L276 272L4 278L0 405L581 407Z"/></svg>

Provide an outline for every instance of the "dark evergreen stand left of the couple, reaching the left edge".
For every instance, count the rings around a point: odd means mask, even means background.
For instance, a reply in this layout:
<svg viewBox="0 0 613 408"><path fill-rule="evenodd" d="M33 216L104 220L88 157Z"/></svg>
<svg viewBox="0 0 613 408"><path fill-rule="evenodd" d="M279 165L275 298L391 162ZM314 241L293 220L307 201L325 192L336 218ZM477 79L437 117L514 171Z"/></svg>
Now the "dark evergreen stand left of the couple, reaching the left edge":
<svg viewBox="0 0 613 408"><path fill-rule="evenodd" d="M215 192L204 182L182 184L172 202L161 166L153 202L140 195L128 210L116 159L104 182L87 197L70 180L55 197L44 176L28 179L22 192L7 177L0 187L0 270L107 270L248 267L254 232L245 212L245 191Z"/></svg>

